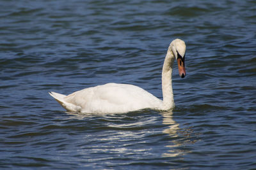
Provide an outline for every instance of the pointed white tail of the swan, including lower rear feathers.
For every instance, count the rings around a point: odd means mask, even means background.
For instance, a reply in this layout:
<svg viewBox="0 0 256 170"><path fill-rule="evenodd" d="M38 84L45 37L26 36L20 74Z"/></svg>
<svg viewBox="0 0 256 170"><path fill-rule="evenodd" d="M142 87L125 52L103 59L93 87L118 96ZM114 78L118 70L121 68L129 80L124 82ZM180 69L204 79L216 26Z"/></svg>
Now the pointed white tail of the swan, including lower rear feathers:
<svg viewBox="0 0 256 170"><path fill-rule="evenodd" d="M68 111L80 111L81 107L80 106L76 106L75 104L72 103L67 103L65 101L65 95L63 94L58 94L56 92L49 92L49 94L56 100L58 101L58 103L61 104L61 106L63 108L65 108Z"/></svg>

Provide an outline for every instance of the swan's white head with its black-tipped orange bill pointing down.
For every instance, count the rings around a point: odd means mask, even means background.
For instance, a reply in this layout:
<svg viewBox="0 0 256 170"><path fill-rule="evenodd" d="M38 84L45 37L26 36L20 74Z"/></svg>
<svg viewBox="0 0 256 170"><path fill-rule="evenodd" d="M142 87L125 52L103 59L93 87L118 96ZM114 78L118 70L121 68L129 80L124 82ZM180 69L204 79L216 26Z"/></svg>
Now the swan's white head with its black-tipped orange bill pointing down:
<svg viewBox="0 0 256 170"><path fill-rule="evenodd" d="M186 44L181 39L174 39L170 44L175 59L178 62L179 74L181 78L186 76L185 69L185 55L186 55Z"/></svg>

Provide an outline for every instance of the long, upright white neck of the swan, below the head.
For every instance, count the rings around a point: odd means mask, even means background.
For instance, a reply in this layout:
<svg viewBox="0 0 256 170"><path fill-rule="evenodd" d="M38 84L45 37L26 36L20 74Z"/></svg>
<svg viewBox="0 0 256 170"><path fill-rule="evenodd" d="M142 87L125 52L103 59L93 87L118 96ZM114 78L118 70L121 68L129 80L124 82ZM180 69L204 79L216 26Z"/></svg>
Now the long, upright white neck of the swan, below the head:
<svg viewBox="0 0 256 170"><path fill-rule="evenodd" d="M174 107L173 90L172 90L172 69L175 57L172 48L169 48L164 59L162 71L162 90L163 90L163 109L168 110Z"/></svg>

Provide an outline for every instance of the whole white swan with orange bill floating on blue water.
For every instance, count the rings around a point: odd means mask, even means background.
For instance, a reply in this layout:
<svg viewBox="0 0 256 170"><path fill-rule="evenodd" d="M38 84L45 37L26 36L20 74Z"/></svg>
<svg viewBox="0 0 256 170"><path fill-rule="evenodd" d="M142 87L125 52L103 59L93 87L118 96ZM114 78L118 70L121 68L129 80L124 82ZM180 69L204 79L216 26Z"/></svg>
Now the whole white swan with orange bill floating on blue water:
<svg viewBox="0 0 256 170"><path fill-rule="evenodd" d="M67 111L79 113L127 113L149 108L152 110L170 110L174 108L172 90L172 69L176 59L179 75L186 76L186 44L174 39L168 47L162 71L163 100L135 85L107 83L79 90L68 96L49 92Z"/></svg>

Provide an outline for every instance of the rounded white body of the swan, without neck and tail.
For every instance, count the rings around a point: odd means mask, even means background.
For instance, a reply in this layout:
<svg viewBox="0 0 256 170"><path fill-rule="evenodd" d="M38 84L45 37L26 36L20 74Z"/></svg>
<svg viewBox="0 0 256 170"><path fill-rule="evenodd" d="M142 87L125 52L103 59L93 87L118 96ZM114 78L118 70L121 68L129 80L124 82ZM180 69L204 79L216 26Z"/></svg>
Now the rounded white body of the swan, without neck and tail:
<svg viewBox="0 0 256 170"><path fill-rule="evenodd" d="M140 87L117 83L79 90L63 97L63 102L72 106L69 108L75 108L70 110L61 104L65 109L82 113L125 113L144 108L157 109L163 104L160 99Z"/></svg>

